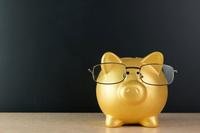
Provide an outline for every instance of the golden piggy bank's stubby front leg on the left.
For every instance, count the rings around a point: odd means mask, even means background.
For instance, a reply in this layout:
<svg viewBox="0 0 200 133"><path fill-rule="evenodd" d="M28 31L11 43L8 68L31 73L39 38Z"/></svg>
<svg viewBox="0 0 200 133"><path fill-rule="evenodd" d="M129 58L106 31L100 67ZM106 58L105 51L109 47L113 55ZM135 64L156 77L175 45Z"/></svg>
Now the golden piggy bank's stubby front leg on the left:
<svg viewBox="0 0 200 133"><path fill-rule="evenodd" d="M124 123L121 120L118 120L110 115L106 115L106 121L105 124L107 127L120 127Z"/></svg>

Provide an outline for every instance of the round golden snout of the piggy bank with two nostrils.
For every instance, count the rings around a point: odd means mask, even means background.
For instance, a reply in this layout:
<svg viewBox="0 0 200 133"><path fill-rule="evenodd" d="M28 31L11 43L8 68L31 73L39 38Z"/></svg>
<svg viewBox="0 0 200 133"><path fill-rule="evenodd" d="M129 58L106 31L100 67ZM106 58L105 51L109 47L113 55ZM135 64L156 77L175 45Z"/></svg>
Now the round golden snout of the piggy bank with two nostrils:
<svg viewBox="0 0 200 133"><path fill-rule="evenodd" d="M119 87L120 98L131 104L142 102L146 93L146 87L138 81L129 81Z"/></svg>

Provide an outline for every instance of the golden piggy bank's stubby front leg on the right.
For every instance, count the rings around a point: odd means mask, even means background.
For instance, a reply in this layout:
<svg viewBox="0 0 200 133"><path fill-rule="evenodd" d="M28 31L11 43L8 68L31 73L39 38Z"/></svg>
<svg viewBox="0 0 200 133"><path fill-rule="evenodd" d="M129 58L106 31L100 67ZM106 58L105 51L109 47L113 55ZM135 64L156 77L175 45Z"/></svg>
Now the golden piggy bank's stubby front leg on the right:
<svg viewBox="0 0 200 133"><path fill-rule="evenodd" d="M140 122L142 126L145 127L157 127L158 126L158 117L157 116L151 116L148 118L145 118Z"/></svg>

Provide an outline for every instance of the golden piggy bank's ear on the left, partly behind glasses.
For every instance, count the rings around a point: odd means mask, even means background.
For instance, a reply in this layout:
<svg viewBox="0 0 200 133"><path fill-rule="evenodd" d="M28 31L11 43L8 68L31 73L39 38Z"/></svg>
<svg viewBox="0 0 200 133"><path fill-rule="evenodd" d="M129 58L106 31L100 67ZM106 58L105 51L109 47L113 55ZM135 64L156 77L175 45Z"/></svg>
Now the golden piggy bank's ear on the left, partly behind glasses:
<svg viewBox="0 0 200 133"><path fill-rule="evenodd" d="M108 63L108 62L114 62L114 63L122 63L121 59L115 55L114 53L112 52L106 52L102 58L101 58L101 63ZM104 71L104 72L109 72L115 65L112 65L112 64L106 64L106 65L102 65L101 66L101 69Z"/></svg>

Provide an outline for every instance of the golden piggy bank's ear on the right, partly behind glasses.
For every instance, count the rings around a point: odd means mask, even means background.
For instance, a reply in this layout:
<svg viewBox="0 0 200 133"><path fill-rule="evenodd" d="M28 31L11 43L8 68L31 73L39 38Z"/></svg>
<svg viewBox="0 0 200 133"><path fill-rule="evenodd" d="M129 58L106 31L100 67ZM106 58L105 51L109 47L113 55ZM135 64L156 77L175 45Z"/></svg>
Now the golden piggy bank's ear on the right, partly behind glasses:
<svg viewBox="0 0 200 133"><path fill-rule="evenodd" d="M144 57L141 61L142 64L163 64L164 57L161 52L153 52ZM153 65L152 65L153 66ZM154 65L154 70L159 74L162 70L162 65Z"/></svg>

